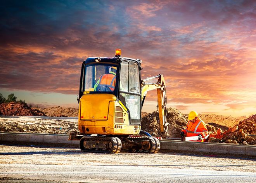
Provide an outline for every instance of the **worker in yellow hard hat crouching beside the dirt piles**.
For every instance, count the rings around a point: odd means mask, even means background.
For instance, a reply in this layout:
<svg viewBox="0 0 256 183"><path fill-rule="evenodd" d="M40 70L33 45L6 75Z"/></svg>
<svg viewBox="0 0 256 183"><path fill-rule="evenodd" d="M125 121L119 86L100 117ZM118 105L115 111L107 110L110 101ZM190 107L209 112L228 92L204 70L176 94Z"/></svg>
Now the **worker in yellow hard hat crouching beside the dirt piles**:
<svg viewBox="0 0 256 183"><path fill-rule="evenodd" d="M199 118L197 112L195 112L194 110L189 113L188 119L189 121L187 124L187 128L181 131L180 136L198 136L198 140L196 141L204 142L203 138L208 135L208 130L206 128L206 125L204 124L204 121Z"/></svg>

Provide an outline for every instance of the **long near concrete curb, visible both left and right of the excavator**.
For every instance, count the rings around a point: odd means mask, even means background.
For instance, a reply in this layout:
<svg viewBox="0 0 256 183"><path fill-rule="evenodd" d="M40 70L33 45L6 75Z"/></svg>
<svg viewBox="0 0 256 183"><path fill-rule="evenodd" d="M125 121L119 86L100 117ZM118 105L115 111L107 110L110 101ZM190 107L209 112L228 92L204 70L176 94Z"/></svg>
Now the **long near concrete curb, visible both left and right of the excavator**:
<svg viewBox="0 0 256 183"><path fill-rule="evenodd" d="M69 135L43 133L11 133L0 132L0 141L26 143L59 143L63 145L79 144L78 140L68 141ZM256 146L234 145L227 143L183 142L178 140L160 140L163 150L180 150L190 152L210 152L220 154L236 154L256 156Z"/></svg>

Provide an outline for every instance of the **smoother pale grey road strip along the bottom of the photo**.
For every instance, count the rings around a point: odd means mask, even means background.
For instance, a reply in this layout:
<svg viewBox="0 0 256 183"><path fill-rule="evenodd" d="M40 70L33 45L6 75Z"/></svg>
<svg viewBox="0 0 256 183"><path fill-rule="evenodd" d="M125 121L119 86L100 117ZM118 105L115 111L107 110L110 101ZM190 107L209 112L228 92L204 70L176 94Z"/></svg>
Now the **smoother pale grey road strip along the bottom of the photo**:
<svg viewBox="0 0 256 183"><path fill-rule="evenodd" d="M0 165L0 176L75 182L254 182L256 174L163 166ZM5 171L3 171L3 169Z"/></svg>

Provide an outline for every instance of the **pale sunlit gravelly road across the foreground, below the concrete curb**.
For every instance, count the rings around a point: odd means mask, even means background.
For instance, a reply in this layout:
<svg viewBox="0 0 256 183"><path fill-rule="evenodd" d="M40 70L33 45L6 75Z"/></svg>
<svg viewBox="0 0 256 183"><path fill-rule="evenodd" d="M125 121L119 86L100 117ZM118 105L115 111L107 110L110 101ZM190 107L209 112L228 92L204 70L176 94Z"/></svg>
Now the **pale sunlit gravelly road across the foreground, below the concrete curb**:
<svg viewBox="0 0 256 183"><path fill-rule="evenodd" d="M13 178L0 178L1 182L255 183L256 160L182 153L85 154L76 148L0 145L0 177Z"/></svg>

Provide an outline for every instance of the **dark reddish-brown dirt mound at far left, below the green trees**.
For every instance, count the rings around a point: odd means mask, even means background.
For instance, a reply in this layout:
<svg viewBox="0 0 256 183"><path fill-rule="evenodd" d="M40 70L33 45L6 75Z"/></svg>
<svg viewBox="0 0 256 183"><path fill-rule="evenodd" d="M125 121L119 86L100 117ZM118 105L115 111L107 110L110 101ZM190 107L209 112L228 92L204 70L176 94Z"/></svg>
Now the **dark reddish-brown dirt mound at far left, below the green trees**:
<svg viewBox="0 0 256 183"><path fill-rule="evenodd" d="M38 109L31 109L28 105L19 102L0 104L1 116L45 116Z"/></svg>

